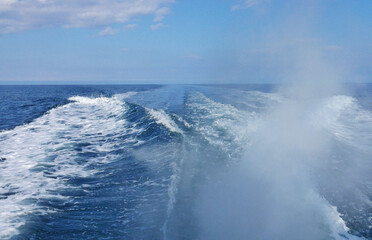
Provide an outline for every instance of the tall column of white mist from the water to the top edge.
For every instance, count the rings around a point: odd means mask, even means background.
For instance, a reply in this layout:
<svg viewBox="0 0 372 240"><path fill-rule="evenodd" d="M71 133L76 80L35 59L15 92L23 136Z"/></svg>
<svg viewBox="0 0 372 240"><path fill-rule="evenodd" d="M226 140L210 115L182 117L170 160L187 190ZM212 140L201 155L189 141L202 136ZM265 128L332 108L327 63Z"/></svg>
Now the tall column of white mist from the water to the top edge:
<svg viewBox="0 0 372 240"><path fill-rule="evenodd" d="M281 79L282 99L264 113L241 161L206 181L199 239L357 239L319 191L334 182L324 174L333 141L321 110L345 93L348 68L324 52L317 9L320 1L290 1L287 18L264 37L268 61L258 69Z"/></svg>

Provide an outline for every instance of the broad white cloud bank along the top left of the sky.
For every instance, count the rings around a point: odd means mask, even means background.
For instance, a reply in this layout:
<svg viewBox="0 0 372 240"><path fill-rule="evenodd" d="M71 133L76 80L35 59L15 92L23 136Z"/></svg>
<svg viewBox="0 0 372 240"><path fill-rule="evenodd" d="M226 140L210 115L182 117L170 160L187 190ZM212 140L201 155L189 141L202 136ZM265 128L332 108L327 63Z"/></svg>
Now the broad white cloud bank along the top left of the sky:
<svg viewBox="0 0 372 240"><path fill-rule="evenodd" d="M42 27L97 27L154 15L160 21L174 0L0 0L0 33Z"/></svg>

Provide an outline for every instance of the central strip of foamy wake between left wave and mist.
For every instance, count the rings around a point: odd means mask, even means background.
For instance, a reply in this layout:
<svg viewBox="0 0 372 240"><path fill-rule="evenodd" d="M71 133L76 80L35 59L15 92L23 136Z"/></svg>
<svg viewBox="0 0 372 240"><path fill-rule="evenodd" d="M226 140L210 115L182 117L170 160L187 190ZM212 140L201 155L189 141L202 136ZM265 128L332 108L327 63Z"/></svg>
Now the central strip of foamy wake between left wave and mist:
<svg viewBox="0 0 372 240"><path fill-rule="evenodd" d="M194 209L200 185L214 166L232 164L241 147L249 142L258 118L254 112L238 110L195 90L187 93L185 111L185 156L172 182L174 197L170 198L163 226L164 239L197 239L199 219Z"/></svg>

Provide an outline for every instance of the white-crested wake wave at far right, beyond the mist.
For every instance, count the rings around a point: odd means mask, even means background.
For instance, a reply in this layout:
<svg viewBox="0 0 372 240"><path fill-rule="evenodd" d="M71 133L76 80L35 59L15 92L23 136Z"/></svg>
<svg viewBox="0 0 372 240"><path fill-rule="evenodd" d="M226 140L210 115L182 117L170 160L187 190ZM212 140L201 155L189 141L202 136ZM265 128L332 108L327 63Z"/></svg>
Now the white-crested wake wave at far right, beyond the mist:
<svg viewBox="0 0 372 240"><path fill-rule="evenodd" d="M338 206L348 225L370 237L372 112L357 99L338 95L322 101L313 123L332 138L331 155L318 167L322 194Z"/></svg>

